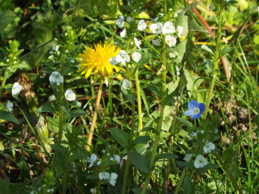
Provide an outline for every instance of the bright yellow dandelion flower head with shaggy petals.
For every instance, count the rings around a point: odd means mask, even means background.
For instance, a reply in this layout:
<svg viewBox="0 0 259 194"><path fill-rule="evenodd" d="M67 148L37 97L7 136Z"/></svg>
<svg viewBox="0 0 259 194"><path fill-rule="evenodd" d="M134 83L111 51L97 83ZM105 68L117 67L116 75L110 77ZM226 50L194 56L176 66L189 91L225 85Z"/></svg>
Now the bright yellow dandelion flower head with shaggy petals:
<svg viewBox="0 0 259 194"><path fill-rule="evenodd" d="M84 53L80 53L79 57L82 58L80 62L81 74L85 74L87 79L92 72L94 72L94 83L97 81L98 74L101 79L105 80L105 77L110 78L113 74L113 68L116 72L119 68L115 65L111 65L109 59L118 55L120 49L116 50L116 46L110 44L94 44L94 48L85 47Z"/></svg>

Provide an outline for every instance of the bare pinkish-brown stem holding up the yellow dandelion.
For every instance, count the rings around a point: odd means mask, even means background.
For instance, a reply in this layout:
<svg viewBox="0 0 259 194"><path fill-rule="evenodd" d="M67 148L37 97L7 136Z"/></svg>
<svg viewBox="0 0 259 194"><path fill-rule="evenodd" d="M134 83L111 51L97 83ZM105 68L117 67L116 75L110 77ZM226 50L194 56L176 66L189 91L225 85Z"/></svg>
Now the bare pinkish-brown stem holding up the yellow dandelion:
<svg viewBox="0 0 259 194"><path fill-rule="evenodd" d="M98 110L99 110L99 105L100 105L100 101L101 101L101 97L102 97L102 90L103 90L103 79L100 79L99 89L98 89L97 98L96 98L96 102L95 102L95 109L94 109L94 113L93 113L93 117L92 117L92 123L91 123L91 126L90 126L89 134L87 136L87 145L86 145L87 151L90 150L90 146L91 146L91 143L92 143L93 132L94 132L94 129L95 129L95 122L96 122L97 113L98 113Z"/></svg>

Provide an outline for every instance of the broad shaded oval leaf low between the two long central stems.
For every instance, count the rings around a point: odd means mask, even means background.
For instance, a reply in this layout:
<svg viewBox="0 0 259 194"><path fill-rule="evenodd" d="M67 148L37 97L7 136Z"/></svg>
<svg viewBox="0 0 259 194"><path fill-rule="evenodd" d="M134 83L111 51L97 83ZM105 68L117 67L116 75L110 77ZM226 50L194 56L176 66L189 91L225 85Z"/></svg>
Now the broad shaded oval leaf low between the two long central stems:
<svg viewBox="0 0 259 194"><path fill-rule="evenodd" d="M131 162L141 172L149 172L149 161L142 154L132 151Z"/></svg>

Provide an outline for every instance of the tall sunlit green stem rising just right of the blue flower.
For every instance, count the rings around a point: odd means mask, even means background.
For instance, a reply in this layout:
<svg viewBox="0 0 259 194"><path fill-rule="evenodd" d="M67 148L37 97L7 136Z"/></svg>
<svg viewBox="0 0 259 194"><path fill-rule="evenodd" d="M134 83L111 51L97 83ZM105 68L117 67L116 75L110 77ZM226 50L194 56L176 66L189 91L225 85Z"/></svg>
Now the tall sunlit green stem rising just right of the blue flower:
<svg viewBox="0 0 259 194"><path fill-rule="evenodd" d="M217 76L218 62L220 60L219 54L220 54L220 38L221 38L221 21L222 21L223 12L224 12L224 7L222 5L220 5L218 31L217 31L217 41L216 41L216 53L215 53L215 61L214 61L214 71L212 73L209 95L208 95L208 98L207 98L205 111L203 113L204 119L206 119L206 117L207 117L208 110L209 110L209 107L210 107L210 101L211 101L212 96L213 96L213 89L214 89L214 84L215 84L215 80L216 80L216 76Z"/></svg>

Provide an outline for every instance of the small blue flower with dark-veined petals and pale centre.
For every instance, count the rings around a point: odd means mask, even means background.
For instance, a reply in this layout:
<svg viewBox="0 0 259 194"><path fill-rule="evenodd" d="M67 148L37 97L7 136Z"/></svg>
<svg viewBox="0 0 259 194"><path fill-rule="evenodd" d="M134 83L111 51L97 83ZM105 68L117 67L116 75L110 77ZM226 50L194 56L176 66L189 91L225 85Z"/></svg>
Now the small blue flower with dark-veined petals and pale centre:
<svg viewBox="0 0 259 194"><path fill-rule="evenodd" d="M191 118L199 118L205 111L205 104L198 103L197 101L188 102L189 110L184 112L184 115L191 116Z"/></svg>

